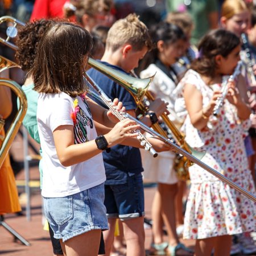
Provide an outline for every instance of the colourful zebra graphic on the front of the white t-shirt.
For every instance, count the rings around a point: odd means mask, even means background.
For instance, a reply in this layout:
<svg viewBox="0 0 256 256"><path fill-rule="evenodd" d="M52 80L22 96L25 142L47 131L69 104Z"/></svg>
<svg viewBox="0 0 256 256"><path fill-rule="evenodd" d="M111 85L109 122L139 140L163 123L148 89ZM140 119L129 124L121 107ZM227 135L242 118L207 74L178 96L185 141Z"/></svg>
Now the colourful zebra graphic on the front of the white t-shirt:
<svg viewBox="0 0 256 256"><path fill-rule="evenodd" d="M82 100L86 106L86 109L88 110L89 115L86 114L79 105L77 105L79 110L76 113L76 124L74 125L75 144L88 142L89 140L87 137L86 127L93 129L93 121L90 115L89 106L85 99Z"/></svg>

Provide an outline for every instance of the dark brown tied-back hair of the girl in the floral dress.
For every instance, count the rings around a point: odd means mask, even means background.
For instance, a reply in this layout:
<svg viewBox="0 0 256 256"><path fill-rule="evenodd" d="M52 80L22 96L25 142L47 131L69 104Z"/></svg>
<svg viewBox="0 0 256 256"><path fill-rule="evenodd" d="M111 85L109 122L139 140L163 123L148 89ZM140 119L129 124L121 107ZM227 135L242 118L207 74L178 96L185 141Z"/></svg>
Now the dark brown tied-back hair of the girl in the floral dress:
<svg viewBox="0 0 256 256"><path fill-rule="evenodd" d="M227 57L240 44L240 39L233 32L224 29L210 31L199 43L199 57L191 68L201 75L214 77L216 71L215 56Z"/></svg>

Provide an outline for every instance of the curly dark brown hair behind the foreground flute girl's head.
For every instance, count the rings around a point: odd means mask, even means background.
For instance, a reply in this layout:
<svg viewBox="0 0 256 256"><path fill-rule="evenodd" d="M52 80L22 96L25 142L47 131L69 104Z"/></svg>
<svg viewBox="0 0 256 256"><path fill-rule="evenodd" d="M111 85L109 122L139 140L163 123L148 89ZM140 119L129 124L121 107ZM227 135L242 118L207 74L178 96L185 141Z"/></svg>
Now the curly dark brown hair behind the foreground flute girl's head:
<svg viewBox="0 0 256 256"><path fill-rule="evenodd" d="M20 28L16 46L18 50L15 57L23 71L29 71L34 63L36 49L46 31L53 26L53 20L40 19L28 22L25 27Z"/></svg>

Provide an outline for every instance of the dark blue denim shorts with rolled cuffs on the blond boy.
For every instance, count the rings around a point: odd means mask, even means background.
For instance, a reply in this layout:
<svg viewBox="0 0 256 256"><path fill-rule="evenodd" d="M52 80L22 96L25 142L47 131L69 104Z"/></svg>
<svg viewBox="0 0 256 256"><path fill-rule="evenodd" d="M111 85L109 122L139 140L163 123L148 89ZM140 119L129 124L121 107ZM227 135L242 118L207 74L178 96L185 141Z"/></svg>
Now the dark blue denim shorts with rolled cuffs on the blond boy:
<svg viewBox="0 0 256 256"><path fill-rule="evenodd" d="M144 189L142 174L127 176L127 183L105 185L108 218L129 220L144 216Z"/></svg>

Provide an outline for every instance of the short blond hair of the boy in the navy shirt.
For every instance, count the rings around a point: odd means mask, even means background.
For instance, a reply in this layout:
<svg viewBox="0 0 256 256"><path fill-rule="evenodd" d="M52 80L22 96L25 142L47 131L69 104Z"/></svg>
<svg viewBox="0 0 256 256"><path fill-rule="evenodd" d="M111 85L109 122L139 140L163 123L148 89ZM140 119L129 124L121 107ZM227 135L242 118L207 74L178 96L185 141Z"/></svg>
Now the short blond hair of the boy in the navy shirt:
<svg viewBox="0 0 256 256"><path fill-rule="evenodd" d="M117 20L108 32L106 49L116 51L124 44L131 44L135 51L144 46L150 50L152 42L146 25L136 14L129 14L126 18Z"/></svg>

